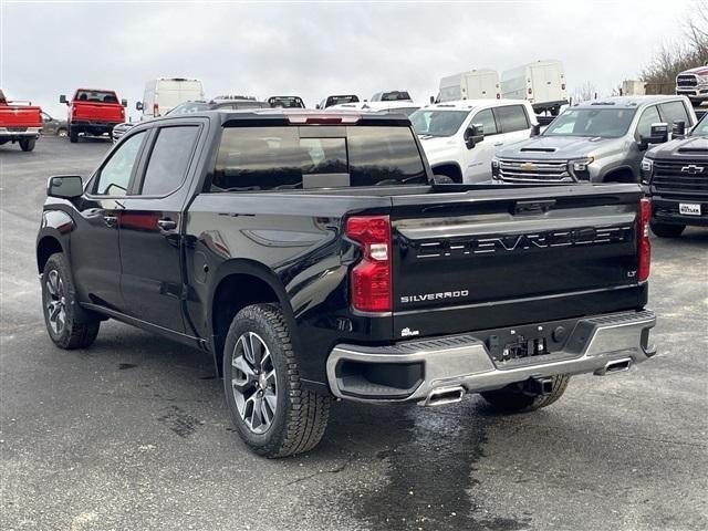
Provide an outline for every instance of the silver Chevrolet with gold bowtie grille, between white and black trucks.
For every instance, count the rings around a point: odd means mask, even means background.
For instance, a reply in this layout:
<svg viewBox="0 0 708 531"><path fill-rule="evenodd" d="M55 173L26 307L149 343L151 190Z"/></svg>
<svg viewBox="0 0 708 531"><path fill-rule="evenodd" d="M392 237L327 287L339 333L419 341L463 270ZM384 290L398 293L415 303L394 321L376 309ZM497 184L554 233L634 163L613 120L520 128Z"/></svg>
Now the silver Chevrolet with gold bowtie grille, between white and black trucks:
<svg viewBox="0 0 708 531"><path fill-rule="evenodd" d="M639 183L644 152L696 114L685 96L620 96L569 107L540 135L504 147L491 162L503 183ZM678 127L680 127L677 124Z"/></svg>

